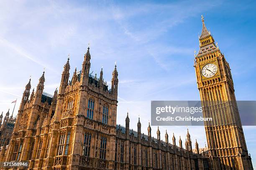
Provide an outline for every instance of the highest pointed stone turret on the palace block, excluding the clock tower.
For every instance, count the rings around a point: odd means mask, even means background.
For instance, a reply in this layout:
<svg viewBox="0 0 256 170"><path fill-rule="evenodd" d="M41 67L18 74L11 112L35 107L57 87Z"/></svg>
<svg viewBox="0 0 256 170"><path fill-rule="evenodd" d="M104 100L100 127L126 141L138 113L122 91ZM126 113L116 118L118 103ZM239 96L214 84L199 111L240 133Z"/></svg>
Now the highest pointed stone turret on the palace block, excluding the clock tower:
<svg viewBox="0 0 256 170"><path fill-rule="evenodd" d="M90 67L91 67L91 54L90 48L87 48L87 52L84 54L84 61L82 63L81 85L86 86L88 84Z"/></svg>

